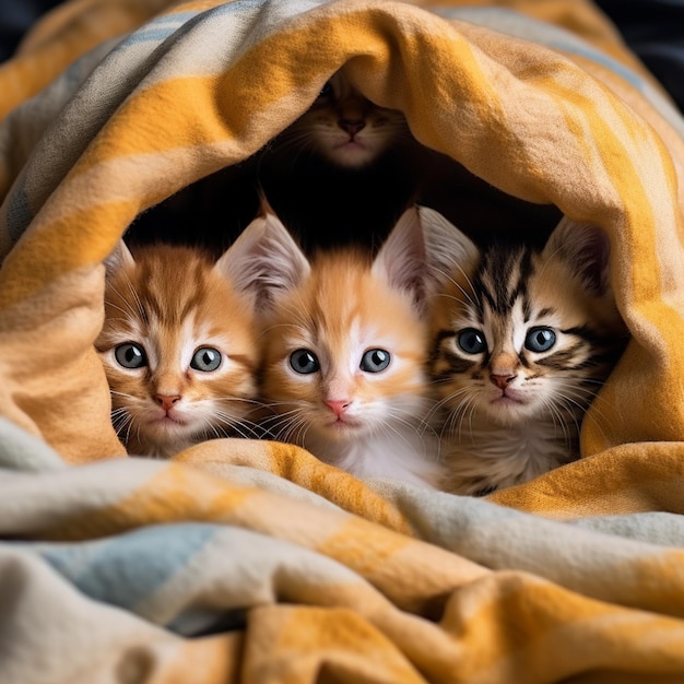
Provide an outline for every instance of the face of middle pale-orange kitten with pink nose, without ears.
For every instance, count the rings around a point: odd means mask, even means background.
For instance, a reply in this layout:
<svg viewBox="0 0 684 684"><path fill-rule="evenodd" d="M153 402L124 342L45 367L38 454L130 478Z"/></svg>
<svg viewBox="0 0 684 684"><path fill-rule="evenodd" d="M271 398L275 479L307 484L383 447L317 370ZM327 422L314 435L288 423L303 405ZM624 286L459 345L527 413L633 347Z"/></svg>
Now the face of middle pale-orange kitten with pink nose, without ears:
<svg viewBox="0 0 684 684"><path fill-rule="evenodd" d="M361 256L321 257L278 303L264 342L264 396L290 437L357 439L424 403L425 323Z"/></svg>

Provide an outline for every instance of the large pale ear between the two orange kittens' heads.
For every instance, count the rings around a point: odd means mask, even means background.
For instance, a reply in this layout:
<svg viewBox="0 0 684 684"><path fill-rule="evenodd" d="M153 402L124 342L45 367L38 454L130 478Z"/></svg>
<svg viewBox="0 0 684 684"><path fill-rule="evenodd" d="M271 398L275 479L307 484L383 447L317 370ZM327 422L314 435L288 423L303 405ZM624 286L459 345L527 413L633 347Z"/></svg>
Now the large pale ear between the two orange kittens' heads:
<svg viewBox="0 0 684 684"><path fill-rule="evenodd" d="M215 268L237 290L250 295L257 309L270 308L281 293L298 285L310 270L287 228L271 212L255 219Z"/></svg>

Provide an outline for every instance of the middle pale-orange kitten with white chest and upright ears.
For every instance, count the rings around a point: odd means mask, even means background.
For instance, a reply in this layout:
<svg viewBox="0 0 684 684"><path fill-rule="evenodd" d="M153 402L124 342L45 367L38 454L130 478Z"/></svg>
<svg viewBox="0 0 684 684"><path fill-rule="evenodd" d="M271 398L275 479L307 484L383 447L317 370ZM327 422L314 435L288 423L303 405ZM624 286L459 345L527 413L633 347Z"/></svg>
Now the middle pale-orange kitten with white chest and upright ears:
<svg viewBox="0 0 684 684"><path fill-rule="evenodd" d="M408 210L373 258L310 260L272 213L240 276L262 311L262 400L274 439L358 477L434 486L441 476L425 374L428 327L422 216Z"/></svg>

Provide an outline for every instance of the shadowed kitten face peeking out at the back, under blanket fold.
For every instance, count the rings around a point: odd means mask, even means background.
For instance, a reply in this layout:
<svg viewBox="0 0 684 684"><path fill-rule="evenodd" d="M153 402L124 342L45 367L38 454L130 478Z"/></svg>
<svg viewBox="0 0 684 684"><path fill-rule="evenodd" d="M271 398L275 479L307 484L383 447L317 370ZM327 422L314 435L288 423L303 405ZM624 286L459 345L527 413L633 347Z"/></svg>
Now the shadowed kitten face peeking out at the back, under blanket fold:
<svg viewBox="0 0 684 684"><path fill-rule="evenodd" d="M338 72L281 143L308 148L335 166L358 168L409 137L400 111L375 105Z"/></svg>

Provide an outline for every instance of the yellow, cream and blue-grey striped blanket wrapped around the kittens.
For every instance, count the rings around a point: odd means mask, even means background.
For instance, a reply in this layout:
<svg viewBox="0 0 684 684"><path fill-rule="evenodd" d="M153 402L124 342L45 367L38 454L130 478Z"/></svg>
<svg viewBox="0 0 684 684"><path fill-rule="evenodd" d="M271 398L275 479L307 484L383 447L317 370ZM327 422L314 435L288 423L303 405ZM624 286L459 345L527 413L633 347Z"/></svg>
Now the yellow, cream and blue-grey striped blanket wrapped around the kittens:
<svg viewBox="0 0 684 684"><path fill-rule="evenodd" d="M577 462L474 498L266 440L125 453L103 260L339 69L606 232L630 340ZM594 5L71 0L0 92L0 681L684 681L684 123Z"/></svg>

